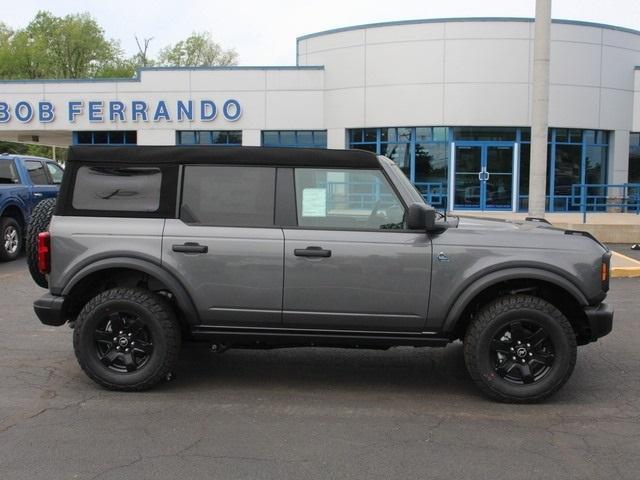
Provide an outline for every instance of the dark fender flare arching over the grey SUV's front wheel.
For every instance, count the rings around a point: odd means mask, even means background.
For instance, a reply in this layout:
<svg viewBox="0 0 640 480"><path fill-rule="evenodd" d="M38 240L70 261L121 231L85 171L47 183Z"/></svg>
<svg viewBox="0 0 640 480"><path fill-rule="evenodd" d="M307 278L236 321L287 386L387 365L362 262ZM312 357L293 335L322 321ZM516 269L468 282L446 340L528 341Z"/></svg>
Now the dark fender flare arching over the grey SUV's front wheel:
<svg viewBox="0 0 640 480"><path fill-rule="evenodd" d="M589 304L587 298L575 284L557 273L533 267L506 268L491 272L476 279L462 291L455 302L453 302L451 308L449 308L442 327L443 332L451 333L455 330L462 312L464 312L465 308L467 308L469 303L471 303L480 292L500 282L521 278L543 280L568 292L575 298L579 305L587 306Z"/></svg>

